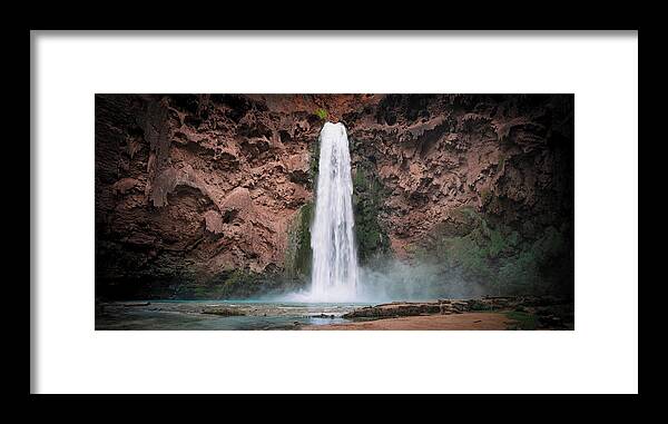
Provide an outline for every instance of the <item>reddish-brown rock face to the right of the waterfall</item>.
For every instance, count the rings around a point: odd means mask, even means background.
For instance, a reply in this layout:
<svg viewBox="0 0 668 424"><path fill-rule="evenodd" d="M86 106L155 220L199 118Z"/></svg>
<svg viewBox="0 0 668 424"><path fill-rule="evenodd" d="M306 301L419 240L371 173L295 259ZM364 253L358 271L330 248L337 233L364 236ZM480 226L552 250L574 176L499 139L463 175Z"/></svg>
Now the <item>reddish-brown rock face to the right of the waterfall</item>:
<svg viewBox="0 0 668 424"><path fill-rule="evenodd" d="M342 119L362 246L491 294L572 294L573 96L389 95Z"/></svg>

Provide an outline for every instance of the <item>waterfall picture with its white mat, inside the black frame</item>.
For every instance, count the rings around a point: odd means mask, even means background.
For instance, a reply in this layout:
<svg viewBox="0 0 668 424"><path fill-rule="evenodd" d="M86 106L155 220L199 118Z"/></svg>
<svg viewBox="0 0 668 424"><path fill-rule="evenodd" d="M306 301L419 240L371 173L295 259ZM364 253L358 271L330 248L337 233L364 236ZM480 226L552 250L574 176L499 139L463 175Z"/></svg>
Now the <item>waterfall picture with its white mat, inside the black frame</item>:
<svg viewBox="0 0 668 424"><path fill-rule="evenodd" d="M32 31L31 67L31 392L638 393L638 31Z"/></svg>

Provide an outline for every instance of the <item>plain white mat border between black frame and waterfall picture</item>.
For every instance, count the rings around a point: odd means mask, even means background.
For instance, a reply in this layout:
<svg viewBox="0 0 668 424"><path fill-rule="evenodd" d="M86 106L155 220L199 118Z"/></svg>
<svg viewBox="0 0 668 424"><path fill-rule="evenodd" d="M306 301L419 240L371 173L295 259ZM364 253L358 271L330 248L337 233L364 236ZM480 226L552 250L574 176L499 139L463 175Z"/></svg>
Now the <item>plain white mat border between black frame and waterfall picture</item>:
<svg viewBox="0 0 668 424"><path fill-rule="evenodd" d="M638 38L32 34L37 392L638 391ZM95 332L95 92L574 92L574 332Z"/></svg>

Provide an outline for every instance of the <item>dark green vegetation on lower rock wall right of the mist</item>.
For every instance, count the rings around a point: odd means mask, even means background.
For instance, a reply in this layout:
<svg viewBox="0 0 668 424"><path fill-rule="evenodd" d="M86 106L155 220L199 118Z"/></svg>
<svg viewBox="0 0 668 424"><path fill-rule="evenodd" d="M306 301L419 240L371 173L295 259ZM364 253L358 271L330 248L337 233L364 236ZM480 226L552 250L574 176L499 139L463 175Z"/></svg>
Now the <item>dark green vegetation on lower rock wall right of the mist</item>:
<svg viewBox="0 0 668 424"><path fill-rule="evenodd" d="M471 207L454 211L453 218L453 226L442 226L431 240L412 246L415 258L498 295L551 293L572 278L566 226L547 226L536 235L522 235Z"/></svg>

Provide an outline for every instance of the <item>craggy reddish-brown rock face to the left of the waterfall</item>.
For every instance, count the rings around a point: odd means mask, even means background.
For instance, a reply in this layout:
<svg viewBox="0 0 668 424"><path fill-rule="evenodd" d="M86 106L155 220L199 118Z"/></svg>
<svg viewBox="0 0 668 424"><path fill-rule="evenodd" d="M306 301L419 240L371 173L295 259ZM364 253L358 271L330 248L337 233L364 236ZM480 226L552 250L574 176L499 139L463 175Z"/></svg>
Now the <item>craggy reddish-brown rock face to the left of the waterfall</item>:
<svg viewBox="0 0 668 424"><path fill-rule="evenodd" d="M313 198L321 120L310 99L281 101L96 96L101 294L165 295L225 270L284 268L288 226Z"/></svg>

